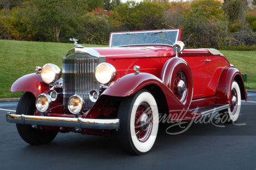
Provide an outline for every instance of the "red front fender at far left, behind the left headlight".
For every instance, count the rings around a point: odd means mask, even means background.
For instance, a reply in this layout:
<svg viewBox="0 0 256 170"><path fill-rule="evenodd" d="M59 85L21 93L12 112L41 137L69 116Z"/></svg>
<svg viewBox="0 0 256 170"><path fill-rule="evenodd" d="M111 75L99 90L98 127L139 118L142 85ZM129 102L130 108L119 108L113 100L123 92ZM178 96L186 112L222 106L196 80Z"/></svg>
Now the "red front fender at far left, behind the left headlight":
<svg viewBox="0 0 256 170"><path fill-rule="evenodd" d="M42 93L47 94L49 91L49 85L43 82L41 74L32 73L22 76L13 83L10 92L17 91L28 91L37 97Z"/></svg>

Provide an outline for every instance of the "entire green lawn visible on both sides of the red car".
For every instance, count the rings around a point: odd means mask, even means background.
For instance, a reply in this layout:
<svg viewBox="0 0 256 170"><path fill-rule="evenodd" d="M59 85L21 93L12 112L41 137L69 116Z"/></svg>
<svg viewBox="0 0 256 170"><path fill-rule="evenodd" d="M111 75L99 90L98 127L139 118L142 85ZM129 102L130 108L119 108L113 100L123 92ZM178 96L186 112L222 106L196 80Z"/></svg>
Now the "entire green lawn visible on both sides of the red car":
<svg viewBox="0 0 256 170"><path fill-rule="evenodd" d="M86 45L84 46L102 46ZM74 48L73 43L0 40L0 98L20 97L22 92L10 93L11 84L23 75L35 73L35 66L54 63L62 69L62 57ZM247 74L247 89L256 89L256 52L221 50L230 63Z"/></svg>

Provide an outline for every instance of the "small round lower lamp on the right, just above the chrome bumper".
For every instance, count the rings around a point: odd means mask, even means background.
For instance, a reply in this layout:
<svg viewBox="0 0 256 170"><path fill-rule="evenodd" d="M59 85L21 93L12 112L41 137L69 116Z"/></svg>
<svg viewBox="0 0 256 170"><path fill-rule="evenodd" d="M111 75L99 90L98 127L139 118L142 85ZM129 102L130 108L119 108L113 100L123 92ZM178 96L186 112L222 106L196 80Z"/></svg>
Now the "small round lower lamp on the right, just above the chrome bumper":
<svg viewBox="0 0 256 170"><path fill-rule="evenodd" d="M68 100L68 110L73 114L81 113L84 109L84 100L82 97L73 95Z"/></svg>

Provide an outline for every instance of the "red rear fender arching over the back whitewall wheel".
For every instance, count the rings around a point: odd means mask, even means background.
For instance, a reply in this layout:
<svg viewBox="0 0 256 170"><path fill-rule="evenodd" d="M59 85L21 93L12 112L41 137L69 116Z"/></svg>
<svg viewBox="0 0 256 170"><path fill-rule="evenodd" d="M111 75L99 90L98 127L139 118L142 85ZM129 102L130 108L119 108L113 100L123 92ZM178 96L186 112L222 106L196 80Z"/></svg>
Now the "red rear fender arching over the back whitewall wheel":
<svg viewBox="0 0 256 170"><path fill-rule="evenodd" d="M226 67L221 73L216 91L216 104L230 104L232 82L236 80L241 91L241 98L247 100L245 85L239 70L234 67Z"/></svg>

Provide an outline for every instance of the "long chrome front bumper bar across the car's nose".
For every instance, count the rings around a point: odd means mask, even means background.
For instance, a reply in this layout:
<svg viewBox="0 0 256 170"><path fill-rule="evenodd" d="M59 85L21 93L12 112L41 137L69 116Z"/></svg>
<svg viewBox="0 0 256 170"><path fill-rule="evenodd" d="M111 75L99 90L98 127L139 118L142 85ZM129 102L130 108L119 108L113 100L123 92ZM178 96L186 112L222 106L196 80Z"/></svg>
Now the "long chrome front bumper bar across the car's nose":
<svg viewBox="0 0 256 170"><path fill-rule="evenodd" d="M119 129L119 119L30 116L24 114L11 114L8 112L6 113L6 121L10 123L27 125L45 125L88 129Z"/></svg>

